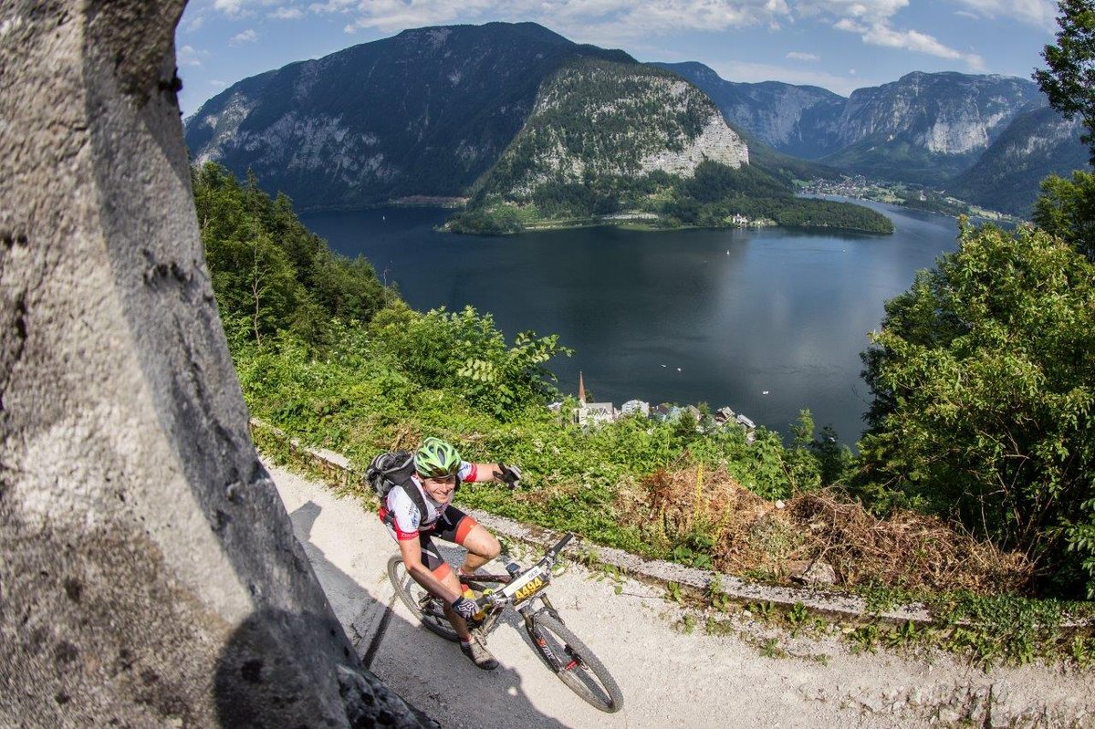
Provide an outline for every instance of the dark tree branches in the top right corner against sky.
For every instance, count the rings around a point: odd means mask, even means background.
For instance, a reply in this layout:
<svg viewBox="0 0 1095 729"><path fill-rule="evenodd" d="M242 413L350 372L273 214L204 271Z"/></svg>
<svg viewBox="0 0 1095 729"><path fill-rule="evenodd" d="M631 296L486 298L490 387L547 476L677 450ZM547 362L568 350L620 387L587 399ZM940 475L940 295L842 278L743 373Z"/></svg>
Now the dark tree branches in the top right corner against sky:
<svg viewBox="0 0 1095 729"><path fill-rule="evenodd" d="M1034 72L1034 80L1049 104L1070 119L1079 114L1087 128L1082 141L1095 164L1095 8L1091 0L1059 0L1057 45L1042 51L1048 69Z"/></svg>

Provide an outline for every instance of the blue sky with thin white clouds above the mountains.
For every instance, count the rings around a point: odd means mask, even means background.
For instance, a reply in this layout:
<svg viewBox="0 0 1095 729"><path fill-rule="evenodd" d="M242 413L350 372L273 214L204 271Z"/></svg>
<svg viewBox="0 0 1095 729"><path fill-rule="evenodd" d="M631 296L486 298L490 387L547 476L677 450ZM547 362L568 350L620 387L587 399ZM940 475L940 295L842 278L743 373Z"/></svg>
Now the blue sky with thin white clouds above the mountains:
<svg viewBox="0 0 1095 729"><path fill-rule="evenodd" d="M191 0L175 32L184 116L237 81L428 25L540 23L639 61L841 95L910 71L1030 78L1050 0Z"/></svg>

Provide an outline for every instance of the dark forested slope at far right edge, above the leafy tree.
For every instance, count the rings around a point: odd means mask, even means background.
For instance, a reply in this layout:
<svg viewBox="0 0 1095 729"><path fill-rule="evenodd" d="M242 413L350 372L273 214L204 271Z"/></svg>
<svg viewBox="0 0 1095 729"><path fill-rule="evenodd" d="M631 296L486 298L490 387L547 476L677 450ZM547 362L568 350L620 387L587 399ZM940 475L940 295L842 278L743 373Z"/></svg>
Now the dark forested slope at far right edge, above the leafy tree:
<svg viewBox="0 0 1095 729"><path fill-rule="evenodd" d="M1070 121L1049 106L1021 114L977 164L945 185L946 192L990 210L1027 217L1044 177L1069 177L1073 170L1090 169L1082 131L1079 117Z"/></svg>

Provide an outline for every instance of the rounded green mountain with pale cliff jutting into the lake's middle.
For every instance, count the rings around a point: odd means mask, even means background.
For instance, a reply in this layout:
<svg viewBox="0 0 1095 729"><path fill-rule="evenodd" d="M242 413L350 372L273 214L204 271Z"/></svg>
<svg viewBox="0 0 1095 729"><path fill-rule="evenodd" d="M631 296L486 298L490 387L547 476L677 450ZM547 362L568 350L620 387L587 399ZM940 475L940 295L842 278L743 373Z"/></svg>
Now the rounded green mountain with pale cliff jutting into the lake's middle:
<svg viewBox="0 0 1095 729"><path fill-rule="evenodd" d="M508 233L591 222L892 232L867 208L796 198L785 172L750 164L714 102L677 73L579 60L544 81L525 127L449 227Z"/></svg>

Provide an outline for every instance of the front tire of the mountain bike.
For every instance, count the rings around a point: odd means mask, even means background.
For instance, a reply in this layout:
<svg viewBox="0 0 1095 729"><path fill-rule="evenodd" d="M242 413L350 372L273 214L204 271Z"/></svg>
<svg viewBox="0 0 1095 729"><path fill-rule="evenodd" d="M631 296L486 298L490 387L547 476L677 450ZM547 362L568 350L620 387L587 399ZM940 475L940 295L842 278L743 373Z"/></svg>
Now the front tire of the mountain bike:
<svg viewBox="0 0 1095 729"><path fill-rule="evenodd" d="M623 692L615 680L568 627L549 615L534 615L532 623L546 643L542 646L533 638L533 647L570 691L607 714L623 707Z"/></svg>

